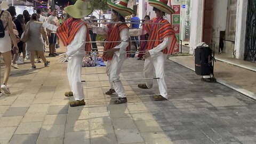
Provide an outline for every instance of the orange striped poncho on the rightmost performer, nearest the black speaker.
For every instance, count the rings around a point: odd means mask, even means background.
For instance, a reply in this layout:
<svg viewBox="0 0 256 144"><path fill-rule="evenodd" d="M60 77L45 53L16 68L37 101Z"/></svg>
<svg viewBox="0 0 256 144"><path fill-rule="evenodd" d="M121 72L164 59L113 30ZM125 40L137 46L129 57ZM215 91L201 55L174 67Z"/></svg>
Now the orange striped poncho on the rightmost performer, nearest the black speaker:
<svg viewBox="0 0 256 144"><path fill-rule="evenodd" d="M151 50L157 45L161 44L166 37L172 37L171 47L166 47L162 52L164 54L172 54L174 51L174 47L177 44L177 38L175 36L174 30L172 29L171 24L163 19L163 18L154 18L153 23L162 23L161 25L158 24L146 24L145 30L148 31L148 43L146 46L146 50ZM151 41L150 41L151 40ZM152 41L156 40L156 41ZM160 41L158 41L160 40Z"/></svg>

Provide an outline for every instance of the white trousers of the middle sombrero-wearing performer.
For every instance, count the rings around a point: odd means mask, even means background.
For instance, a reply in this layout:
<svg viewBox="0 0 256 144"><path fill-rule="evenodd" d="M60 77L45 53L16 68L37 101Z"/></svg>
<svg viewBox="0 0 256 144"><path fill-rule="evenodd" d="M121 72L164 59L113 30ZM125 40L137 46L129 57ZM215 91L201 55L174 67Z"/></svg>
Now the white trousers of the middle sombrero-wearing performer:
<svg viewBox="0 0 256 144"><path fill-rule="evenodd" d="M124 86L121 81L115 81L115 80L120 79L119 74L121 73L124 60L125 60L125 54L120 54L119 57L117 57L117 55L114 54L113 59L108 60L107 67L106 67L106 73L108 75L111 89L114 89L118 94L118 97L120 98L126 97Z"/></svg>

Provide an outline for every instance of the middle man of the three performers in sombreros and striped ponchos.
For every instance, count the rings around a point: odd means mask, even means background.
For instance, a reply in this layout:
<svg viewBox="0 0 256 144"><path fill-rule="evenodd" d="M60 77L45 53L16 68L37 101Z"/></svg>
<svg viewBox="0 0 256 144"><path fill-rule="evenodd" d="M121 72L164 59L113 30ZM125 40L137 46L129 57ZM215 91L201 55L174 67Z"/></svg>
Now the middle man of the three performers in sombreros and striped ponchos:
<svg viewBox="0 0 256 144"><path fill-rule="evenodd" d="M107 41L104 47L103 60L108 61L106 72L109 78L111 89L106 94L118 94L115 104L127 102L124 86L119 80L122 65L126 59L126 51L130 51L130 34L129 28L125 23L124 17L134 13L132 9L127 8L129 0L122 0L118 4L108 1L108 6L112 9L111 19L116 22L97 29L97 34L107 34ZM122 41L122 42L116 42Z"/></svg>

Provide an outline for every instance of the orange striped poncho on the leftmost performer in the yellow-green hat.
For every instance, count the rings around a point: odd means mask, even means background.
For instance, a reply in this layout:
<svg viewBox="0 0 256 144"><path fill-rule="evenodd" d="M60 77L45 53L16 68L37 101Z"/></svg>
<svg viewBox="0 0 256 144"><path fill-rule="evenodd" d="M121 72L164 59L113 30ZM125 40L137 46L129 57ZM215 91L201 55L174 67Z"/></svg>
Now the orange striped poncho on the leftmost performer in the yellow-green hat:
<svg viewBox="0 0 256 144"><path fill-rule="evenodd" d="M87 23L81 19L69 18L67 19L63 25L59 26L57 29L57 36L60 41L64 44L64 46L68 46L71 41L73 41L77 31L81 26L85 25L87 28ZM91 38L89 35L89 30L87 30L86 34L86 42L91 42ZM92 44L86 43L85 49L86 53L92 50Z"/></svg>

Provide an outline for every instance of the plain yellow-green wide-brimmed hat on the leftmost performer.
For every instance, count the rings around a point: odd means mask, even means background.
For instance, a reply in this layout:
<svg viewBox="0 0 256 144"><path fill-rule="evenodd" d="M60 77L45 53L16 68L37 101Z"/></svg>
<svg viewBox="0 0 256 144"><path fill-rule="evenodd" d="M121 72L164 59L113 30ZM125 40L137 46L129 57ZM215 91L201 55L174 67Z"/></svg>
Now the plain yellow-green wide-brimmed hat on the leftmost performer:
<svg viewBox="0 0 256 144"><path fill-rule="evenodd" d="M88 0L77 0L74 5L69 5L64 10L73 18L84 18L92 13L92 4Z"/></svg>

